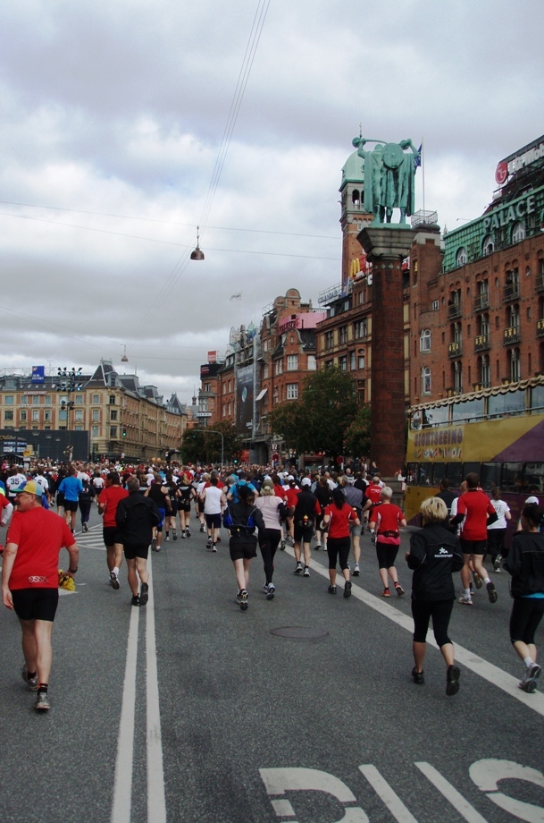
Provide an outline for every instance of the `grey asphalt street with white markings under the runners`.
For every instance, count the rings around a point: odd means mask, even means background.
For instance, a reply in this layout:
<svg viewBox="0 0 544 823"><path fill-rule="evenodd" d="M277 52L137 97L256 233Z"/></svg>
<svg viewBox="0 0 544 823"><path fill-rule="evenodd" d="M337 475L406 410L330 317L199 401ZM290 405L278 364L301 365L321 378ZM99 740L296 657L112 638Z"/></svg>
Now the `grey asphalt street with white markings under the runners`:
<svg viewBox="0 0 544 823"><path fill-rule="evenodd" d="M431 643L424 685L410 677L408 533L404 598L381 598L366 535L351 598L328 594L323 552L305 579L288 547L270 601L255 558L242 612L226 532L212 554L191 522L151 556L152 598L134 608L124 564L121 589L107 583L93 506L45 715L0 612L2 823L544 821L544 694L516 686L506 573L496 604L481 590L454 607L461 688L447 697Z"/></svg>

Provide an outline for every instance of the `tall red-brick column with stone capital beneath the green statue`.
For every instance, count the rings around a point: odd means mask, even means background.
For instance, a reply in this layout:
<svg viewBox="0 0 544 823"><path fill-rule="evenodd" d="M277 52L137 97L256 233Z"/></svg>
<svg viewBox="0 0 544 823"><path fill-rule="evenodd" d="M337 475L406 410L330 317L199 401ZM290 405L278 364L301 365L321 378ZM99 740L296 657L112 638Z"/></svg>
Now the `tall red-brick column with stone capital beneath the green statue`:
<svg viewBox="0 0 544 823"><path fill-rule="evenodd" d="M394 224L367 226L357 235L372 262L371 459L389 477L406 460L402 261L415 235Z"/></svg>

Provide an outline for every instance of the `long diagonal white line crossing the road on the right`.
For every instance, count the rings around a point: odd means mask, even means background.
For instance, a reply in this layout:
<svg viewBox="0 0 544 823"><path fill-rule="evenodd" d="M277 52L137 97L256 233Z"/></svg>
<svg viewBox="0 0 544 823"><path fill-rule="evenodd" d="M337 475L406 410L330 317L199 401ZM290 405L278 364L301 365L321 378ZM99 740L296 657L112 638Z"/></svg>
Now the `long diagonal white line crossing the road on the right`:
<svg viewBox="0 0 544 823"><path fill-rule="evenodd" d="M295 552L292 547L287 546L285 548L286 552L291 555L295 556ZM314 572L321 574L326 580L329 580L329 569L322 566L320 563L316 563L314 560L310 561L310 568L313 569ZM393 621L393 623L398 624L403 629L406 629L407 632L413 633L414 632L414 621L412 617L405 615L403 612L399 611L397 608L389 606L384 598L377 598L375 595L370 594L370 592L360 588L356 584L356 582L352 578L353 587L351 590L352 598L356 598L357 600L361 600L365 606L369 606L374 609L374 611L379 612L384 617L387 617L389 620ZM337 577L337 586L339 589L344 588L344 579L341 575ZM508 641L507 638L507 627L505 628L505 642ZM431 646L434 646L435 649L438 649L437 642L434 640L431 632L429 632L429 636L427 638L427 643ZM460 646L456 641L454 641L454 646L456 649L456 662L461 663L466 668L470 669L474 672L475 675L480 675L484 680L487 680L489 683L492 683L494 686L497 686L498 689L505 691L509 697L515 698L515 700L519 700L520 703L523 703L524 706L527 708L531 708L533 711L536 711L537 714L542 715L544 717L544 694L540 691L534 691L532 694L527 694L526 691L522 691L522 689L518 688L519 679L517 677L513 677L512 675L508 675L502 669L499 669L498 666L494 666L488 660L479 657L479 655L474 654L473 651L470 649L465 649L464 646Z"/></svg>

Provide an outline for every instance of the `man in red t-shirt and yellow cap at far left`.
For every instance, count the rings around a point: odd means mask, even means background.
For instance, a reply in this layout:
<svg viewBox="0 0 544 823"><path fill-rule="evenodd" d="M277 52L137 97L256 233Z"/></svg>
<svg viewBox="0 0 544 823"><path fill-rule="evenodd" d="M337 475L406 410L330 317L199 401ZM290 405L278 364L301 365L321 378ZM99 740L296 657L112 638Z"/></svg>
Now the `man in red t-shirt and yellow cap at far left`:
<svg viewBox="0 0 544 823"><path fill-rule="evenodd" d="M35 480L17 488L17 511L7 534L2 566L2 599L14 609L22 628L25 664L22 676L37 691L35 708L49 708L51 632L59 599L59 552L68 549L68 574L78 571L80 551L62 517L42 508L42 489Z"/></svg>

